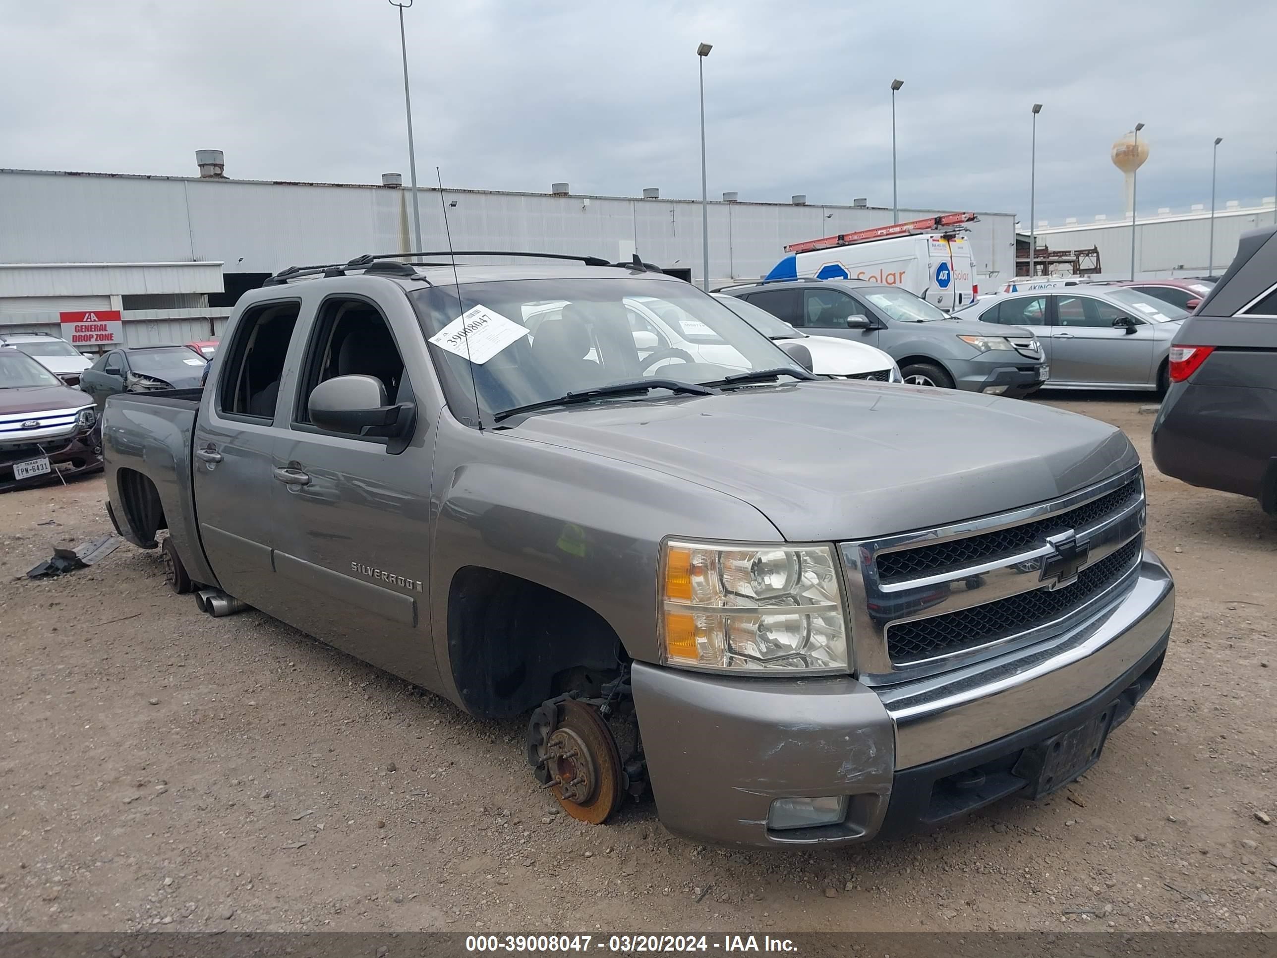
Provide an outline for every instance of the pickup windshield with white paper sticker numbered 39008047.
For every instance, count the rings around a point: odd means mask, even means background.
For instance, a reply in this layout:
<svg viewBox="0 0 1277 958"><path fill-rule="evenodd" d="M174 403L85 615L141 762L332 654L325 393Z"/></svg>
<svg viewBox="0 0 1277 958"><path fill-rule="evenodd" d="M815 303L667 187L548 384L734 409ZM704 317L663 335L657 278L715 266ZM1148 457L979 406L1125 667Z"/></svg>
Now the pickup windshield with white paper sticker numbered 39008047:
<svg viewBox="0 0 1277 958"><path fill-rule="evenodd" d="M543 278L411 293L455 415L510 409L642 378L700 386L780 369L789 354L695 286L670 280ZM654 322L655 319L655 322ZM677 327L677 328L676 328ZM653 390L627 400L668 396ZM598 401L605 401L600 396ZM478 405L478 410L476 410Z"/></svg>

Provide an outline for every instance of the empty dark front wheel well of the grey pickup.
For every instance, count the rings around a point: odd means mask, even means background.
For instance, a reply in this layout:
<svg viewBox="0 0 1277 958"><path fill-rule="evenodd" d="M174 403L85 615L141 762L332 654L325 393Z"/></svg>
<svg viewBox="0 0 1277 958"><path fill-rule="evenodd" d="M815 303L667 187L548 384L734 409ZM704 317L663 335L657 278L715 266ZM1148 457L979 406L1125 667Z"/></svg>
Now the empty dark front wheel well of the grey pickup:
<svg viewBox="0 0 1277 958"><path fill-rule="evenodd" d="M448 589L448 659L471 713L510 718L570 690L596 695L626 653L612 626L576 599L466 566Z"/></svg>

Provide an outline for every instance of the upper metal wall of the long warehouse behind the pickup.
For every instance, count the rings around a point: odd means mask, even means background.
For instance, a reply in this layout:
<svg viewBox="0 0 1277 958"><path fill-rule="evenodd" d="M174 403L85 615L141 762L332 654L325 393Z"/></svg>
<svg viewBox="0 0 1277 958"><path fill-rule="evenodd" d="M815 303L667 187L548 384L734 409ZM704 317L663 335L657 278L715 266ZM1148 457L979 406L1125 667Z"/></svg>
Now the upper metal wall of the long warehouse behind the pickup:
<svg viewBox="0 0 1277 958"><path fill-rule="evenodd" d="M444 190L457 249L520 249L626 258L701 275L695 201ZM447 247L437 190L420 193L430 249ZM386 186L116 176L0 170L0 262L221 261L225 272L276 272L407 249L409 190ZM755 278L787 243L891 222L891 211L848 206L710 203L710 277ZM902 209L919 218L948 209ZM977 272L1014 273L1015 225L981 213Z"/></svg>

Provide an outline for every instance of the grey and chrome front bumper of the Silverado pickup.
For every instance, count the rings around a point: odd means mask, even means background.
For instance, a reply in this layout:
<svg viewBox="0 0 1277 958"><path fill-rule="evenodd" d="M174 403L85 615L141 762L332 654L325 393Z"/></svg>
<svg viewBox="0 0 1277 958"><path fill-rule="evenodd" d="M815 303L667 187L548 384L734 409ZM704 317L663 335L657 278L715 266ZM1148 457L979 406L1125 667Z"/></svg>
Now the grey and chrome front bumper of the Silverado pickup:
<svg viewBox="0 0 1277 958"><path fill-rule="evenodd" d="M850 677L710 677L635 663L647 772L672 832L732 846L849 844L936 825L1013 795L1025 747L1112 708L1157 676L1175 611L1166 567L1073 631L946 676L870 690ZM978 769L986 786L951 795ZM838 825L773 830L774 798L848 796Z"/></svg>

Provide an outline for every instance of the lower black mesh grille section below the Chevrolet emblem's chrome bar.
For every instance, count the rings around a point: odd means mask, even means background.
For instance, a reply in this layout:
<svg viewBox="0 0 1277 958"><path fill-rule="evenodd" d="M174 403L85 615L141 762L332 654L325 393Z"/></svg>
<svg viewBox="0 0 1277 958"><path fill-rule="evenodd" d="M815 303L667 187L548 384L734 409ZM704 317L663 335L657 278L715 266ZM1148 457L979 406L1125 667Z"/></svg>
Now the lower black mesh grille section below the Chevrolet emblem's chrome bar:
<svg viewBox="0 0 1277 958"><path fill-rule="evenodd" d="M946 616L900 622L886 631L886 650L895 664L951 655L996 641L1006 635L1041 628L1105 591L1135 565L1143 551L1140 540L1129 542L1117 552L1078 574L1078 581L1057 590L1036 589L987 605L973 605Z"/></svg>

